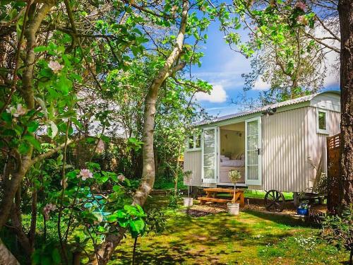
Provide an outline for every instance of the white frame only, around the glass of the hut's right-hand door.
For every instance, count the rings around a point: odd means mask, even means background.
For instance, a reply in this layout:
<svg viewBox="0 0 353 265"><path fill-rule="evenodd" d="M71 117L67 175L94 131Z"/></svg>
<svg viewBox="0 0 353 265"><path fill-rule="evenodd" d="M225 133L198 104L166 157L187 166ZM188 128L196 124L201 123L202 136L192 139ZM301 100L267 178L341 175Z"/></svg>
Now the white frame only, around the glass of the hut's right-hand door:
<svg viewBox="0 0 353 265"><path fill-rule="evenodd" d="M258 121L258 179L248 179L248 122ZM261 117L246 119L245 121L245 184L262 184L262 126Z"/></svg>

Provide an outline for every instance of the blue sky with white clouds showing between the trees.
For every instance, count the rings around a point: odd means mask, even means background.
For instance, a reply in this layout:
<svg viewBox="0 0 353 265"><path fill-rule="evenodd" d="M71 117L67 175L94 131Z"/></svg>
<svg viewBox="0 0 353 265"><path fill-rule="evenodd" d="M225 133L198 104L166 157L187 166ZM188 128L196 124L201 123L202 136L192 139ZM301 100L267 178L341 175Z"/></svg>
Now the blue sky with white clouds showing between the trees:
<svg viewBox="0 0 353 265"><path fill-rule="evenodd" d="M245 30L239 30L244 40L247 39ZM241 110L241 106L231 104L232 98L244 94L244 78L242 73L251 71L250 59L232 51L223 39L223 33L218 30L217 23L211 23L208 28L208 42L201 46L205 56L201 59L202 66L194 66L192 69L193 77L201 78L213 85L211 95L198 94L198 102L209 114L225 115ZM337 55L333 52L328 54L328 62L335 61ZM259 81L253 90L246 92L246 98L256 98L261 90L268 88L268 85ZM337 71L328 71L325 78L325 90L337 89Z"/></svg>

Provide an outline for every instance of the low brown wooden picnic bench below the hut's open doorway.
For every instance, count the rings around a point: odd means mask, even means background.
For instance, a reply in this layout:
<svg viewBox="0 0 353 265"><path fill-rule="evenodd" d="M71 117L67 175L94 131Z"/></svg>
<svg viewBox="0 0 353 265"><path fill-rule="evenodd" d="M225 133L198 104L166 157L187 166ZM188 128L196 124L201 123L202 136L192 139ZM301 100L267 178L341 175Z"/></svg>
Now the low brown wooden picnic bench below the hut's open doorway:
<svg viewBox="0 0 353 265"><path fill-rule="evenodd" d="M206 192L205 197L198 197L200 204L203 205L206 201L220 202L227 204L228 202L238 203L240 207L244 207L244 190L236 189L234 194L234 189L225 189L225 188L206 188L203 189ZM231 199L220 199L217 198L217 194L220 193L229 193L232 194Z"/></svg>

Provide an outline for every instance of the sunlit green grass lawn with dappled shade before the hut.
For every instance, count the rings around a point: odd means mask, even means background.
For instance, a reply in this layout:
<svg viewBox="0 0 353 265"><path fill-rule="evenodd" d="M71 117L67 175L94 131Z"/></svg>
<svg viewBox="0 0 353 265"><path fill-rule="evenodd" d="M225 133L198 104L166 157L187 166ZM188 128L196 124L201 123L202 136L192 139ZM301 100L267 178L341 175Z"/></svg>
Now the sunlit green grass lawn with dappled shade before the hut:
<svg viewBox="0 0 353 265"><path fill-rule="evenodd" d="M150 198L150 207L166 206L166 197ZM167 228L138 239L136 264L347 264L310 228L288 216L256 211L191 217L166 210ZM131 264L133 240L128 236L109 264Z"/></svg>

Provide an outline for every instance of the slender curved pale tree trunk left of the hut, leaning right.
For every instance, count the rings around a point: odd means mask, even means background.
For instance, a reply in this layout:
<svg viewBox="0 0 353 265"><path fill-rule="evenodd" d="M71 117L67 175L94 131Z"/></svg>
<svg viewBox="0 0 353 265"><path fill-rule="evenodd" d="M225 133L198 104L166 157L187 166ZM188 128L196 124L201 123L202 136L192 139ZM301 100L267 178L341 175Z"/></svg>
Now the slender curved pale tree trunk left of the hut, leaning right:
<svg viewBox="0 0 353 265"><path fill-rule="evenodd" d="M133 204L139 204L143 206L148 194L150 194L153 184L155 183L155 154L153 150L153 132L155 129L155 110L158 90L162 83L172 74L184 68L185 63L177 64L179 60L185 38L185 30L187 24L187 16L189 11L189 1L183 1L183 11L181 13L181 23L177 40L175 42L172 52L164 63L164 66L158 72L157 76L153 80L150 89L145 98L145 112L144 112L144 123L143 123L143 147L142 147L142 159L143 159L143 171L140 187L133 196ZM120 228L119 232L114 235L108 233L105 242L99 246L98 259L95 255L91 257L91 265L107 264L110 257L114 253L114 249L119 245L121 239L124 237L125 229Z"/></svg>

